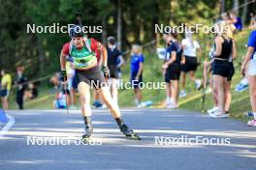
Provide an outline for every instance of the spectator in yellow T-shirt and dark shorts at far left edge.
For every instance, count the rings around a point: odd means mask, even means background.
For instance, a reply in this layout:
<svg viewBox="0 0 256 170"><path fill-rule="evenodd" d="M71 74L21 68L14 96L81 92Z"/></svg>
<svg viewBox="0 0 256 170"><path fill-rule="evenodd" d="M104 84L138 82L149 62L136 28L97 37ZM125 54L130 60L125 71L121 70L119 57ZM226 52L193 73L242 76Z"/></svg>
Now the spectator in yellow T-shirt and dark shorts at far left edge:
<svg viewBox="0 0 256 170"><path fill-rule="evenodd" d="M8 97L11 91L12 86L12 76L7 73L5 70L1 71L2 80L1 80L1 91L0 96L2 99L2 105L5 110L8 109Z"/></svg>

